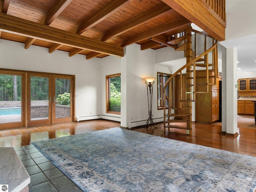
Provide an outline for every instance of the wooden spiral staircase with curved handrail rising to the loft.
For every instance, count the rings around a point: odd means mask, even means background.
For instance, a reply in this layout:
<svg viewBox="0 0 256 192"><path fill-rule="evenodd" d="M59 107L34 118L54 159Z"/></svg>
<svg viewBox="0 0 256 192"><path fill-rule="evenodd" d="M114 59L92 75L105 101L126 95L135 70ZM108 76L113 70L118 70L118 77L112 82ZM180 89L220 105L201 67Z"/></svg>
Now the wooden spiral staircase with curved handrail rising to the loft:
<svg viewBox="0 0 256 192"><path fill-rule="evenodd" d="M170 128L184 129L186 134L192 134L192 102L196 102L196 94L208 93L209 85L216 85L217 82L218 42L205 32L189 27L169 36L168 43L173 45L174 50L184 51L186 64L172 74L164 86L163 102L166 104L164 105L164 136L166 132L170 132ZM186 75L182 74L184 70ZM205 71L204 83L196 84L197 70ZM176 76L180 78L179 86L173 89L172 82ZM186 87L186 90L182 87ZM202 90L202 87L205 87L205 90ZM172 90L178 90L176 106L172 103ZM168 128L167 131L166 128Z"/></svg>

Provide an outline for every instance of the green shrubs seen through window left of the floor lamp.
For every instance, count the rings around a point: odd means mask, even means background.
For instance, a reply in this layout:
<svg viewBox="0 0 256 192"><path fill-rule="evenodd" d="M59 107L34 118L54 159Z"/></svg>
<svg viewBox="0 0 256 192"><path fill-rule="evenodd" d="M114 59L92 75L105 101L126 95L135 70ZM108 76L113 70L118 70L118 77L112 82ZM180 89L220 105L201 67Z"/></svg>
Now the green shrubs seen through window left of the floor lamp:
<svg viewBox="0 0 256 192"><path fill-rule="evenodd" d="M121 111L121 76L110 78L110 111Z"/></svg>

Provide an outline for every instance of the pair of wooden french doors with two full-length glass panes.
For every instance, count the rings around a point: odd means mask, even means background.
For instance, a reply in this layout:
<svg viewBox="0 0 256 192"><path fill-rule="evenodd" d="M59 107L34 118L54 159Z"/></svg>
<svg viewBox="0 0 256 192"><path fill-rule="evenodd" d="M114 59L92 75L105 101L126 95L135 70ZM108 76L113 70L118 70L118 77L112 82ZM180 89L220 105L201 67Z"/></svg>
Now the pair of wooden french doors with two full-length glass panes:
<svg viewBox="0 0 256 192"><path fill-rule="evenodd" d="M28 73L27 126L74 120L74 77Z"/></svg>

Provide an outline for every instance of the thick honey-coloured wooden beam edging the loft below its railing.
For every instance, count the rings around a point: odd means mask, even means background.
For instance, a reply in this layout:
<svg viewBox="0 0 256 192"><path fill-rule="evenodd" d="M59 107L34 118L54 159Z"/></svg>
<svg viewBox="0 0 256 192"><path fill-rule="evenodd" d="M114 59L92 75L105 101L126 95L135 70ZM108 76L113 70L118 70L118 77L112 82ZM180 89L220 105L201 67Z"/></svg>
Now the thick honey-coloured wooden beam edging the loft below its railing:
<svg viewBox="0 0 256 192"><path fill-rule="evenodd" d="M225 40L226 23L215 15L202 0L162 0L176 12L202 28L218 41ZM196 7L196 9L194 9ZM196 11L200 10L200 11Z"/></svg>

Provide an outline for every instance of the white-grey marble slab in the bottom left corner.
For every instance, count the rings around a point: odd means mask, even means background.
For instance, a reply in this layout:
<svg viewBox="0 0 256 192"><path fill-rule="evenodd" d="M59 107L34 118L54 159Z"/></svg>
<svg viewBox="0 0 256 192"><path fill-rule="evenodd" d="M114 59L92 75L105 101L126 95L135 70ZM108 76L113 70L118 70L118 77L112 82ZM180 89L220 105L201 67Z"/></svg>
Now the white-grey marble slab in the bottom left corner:
<svg viewBox="0 0 256 192"><path fill-rule="evenodd" d="M30 176L12 147L0 147L0 184L8 185L9 192L24 189Z"/></svg>

